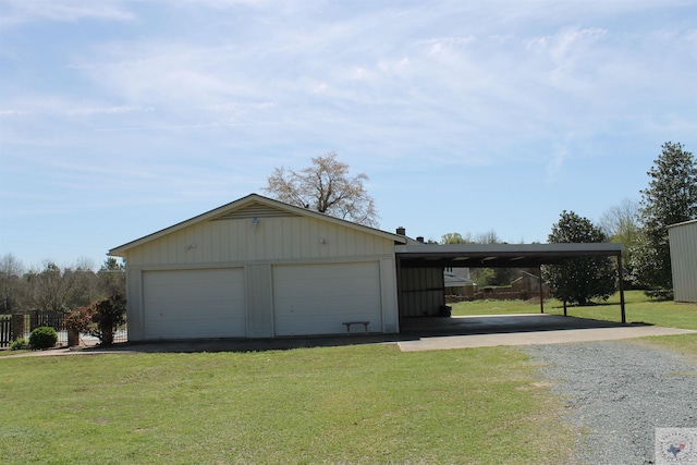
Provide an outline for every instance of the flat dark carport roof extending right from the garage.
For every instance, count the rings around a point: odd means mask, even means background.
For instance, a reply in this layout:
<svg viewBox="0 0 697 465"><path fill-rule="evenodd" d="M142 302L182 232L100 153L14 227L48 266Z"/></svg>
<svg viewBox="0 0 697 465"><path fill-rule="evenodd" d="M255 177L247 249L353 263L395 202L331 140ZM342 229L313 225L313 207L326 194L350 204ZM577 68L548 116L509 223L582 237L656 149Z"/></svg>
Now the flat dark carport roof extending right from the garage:
<svg viewBox="0 0 697 465"><path fill-rule="evenodd" d="M395 254L403 267L537 268L577 257L616 257L623 248L613 243L408 244L396 245Z"/></svg>

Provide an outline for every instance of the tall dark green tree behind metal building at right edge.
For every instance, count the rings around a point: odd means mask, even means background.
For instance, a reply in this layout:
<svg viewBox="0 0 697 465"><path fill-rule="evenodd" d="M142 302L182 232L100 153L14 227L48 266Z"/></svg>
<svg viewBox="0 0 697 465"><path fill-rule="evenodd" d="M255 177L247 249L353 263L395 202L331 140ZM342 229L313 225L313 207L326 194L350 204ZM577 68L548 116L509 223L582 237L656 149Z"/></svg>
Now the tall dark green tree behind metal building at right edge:
<svg viewBox="0 0 697 465"><path fill-rule="evenodd" d="M651 295L671 297L673 277L668 227L697 218L697 160L680 143L665 143L647 173L641 191L640 230L632 250L633 279L653 290Z"/></svg>

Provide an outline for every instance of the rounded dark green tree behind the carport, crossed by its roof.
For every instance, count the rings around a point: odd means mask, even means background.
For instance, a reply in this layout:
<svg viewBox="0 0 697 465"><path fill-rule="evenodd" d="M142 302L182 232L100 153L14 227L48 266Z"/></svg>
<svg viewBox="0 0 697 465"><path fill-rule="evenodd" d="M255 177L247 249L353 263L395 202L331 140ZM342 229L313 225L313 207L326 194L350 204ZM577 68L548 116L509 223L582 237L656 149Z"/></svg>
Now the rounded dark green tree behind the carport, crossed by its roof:
<svg viewBox="0 0 697 465"><path fill-rule="evenodd" d="M548 236L550 244L607 242L606 234L587 218L563 211ZM550 293L560 301L588 305L600 298L607 301L616 291L614 266L609 257L582 257L563 265L548 265L543 279Z"/></svg>

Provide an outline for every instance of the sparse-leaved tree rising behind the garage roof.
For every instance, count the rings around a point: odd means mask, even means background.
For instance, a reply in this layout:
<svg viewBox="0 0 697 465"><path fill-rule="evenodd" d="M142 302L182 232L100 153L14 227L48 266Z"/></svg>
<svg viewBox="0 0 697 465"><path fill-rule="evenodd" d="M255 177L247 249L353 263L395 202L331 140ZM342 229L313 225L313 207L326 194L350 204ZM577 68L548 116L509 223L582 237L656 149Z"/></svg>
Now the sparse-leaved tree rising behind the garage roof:
<svg viewBox="0 0 697 465"><path fill-rule="evenodd" d="M351 176L348 166L337 157L333 151L315 157L310 167L299 171L274 168L264 192L286 204L377 227L375 200L363 185L368 176L365 173Z"/></svg>

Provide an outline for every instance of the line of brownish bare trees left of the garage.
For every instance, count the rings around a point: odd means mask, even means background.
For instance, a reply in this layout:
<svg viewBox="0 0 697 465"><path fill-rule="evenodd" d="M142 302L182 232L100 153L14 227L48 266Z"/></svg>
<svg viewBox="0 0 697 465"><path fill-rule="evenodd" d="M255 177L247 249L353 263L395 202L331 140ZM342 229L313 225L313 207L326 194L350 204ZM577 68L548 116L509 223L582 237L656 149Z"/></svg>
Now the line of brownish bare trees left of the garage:
<svg viewBox="0 0 697 465"><path fill-rule="evenodd" d="M61 267L46 260L26 270L12 254L0 257L0 315L29 310L70 311L125 294L125 266L109 257L94 271L86 260Z"/></svg>

